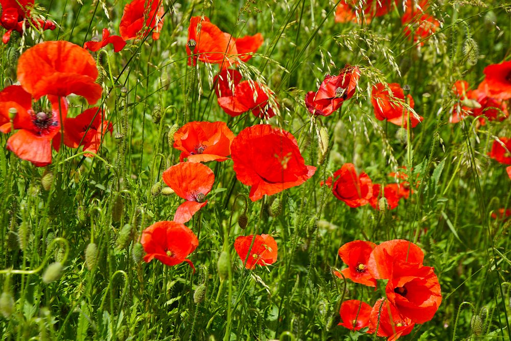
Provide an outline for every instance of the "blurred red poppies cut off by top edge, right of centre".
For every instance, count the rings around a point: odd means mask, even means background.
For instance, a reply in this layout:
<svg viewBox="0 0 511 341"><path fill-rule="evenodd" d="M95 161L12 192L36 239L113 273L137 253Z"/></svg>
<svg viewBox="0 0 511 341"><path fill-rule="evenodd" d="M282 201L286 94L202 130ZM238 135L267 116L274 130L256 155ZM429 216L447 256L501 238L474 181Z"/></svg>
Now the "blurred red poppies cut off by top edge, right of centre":
<svg viewBox="0 0 511 341"><path fill-rule="evenodd" d="M408 39L420 42L435 33L440 22L428 13L428 0L341 0L335 11L336 22L364 22L369 24L374 17L387 14L395 5L403 6L401 24Z"/></svg>

